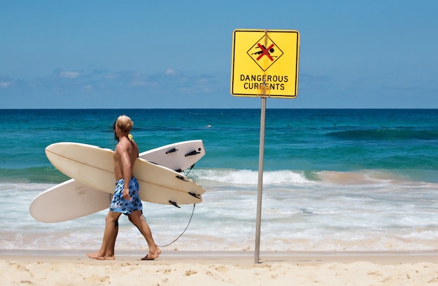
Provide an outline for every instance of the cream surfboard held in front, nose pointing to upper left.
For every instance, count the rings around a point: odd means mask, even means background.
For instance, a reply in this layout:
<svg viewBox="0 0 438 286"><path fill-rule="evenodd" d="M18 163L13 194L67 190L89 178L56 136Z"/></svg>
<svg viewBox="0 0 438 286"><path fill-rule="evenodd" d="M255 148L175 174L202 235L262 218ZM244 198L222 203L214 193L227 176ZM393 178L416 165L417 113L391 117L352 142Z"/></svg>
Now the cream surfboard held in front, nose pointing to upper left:
<svg viewBox="0 0 438 286"><path fill-rule="evenodd" d="M97 190L114 192L114 151L82 143L54 143L45 155L59 171ZM199 203L205 190L181 173L137 158L132 169L140 199L153 203Z"/></svg>

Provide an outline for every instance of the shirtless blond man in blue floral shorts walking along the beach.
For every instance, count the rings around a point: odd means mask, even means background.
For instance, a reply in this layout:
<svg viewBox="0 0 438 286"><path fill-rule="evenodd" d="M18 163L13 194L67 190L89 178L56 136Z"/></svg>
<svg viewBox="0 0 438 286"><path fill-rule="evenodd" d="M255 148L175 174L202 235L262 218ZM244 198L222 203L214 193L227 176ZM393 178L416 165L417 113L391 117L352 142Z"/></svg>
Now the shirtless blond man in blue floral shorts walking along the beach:
<svg viewBox="0 0 438 286"><path fill-rule="evenodd" d="M132 175L134 162L139 157L139 147L132 138L129 138L129 132L133 125L134 122L126 115L119 116L114 123L114 136L118 140L114 152L115 192L106 215L101 248L96 252L86 254L93 259L115 259L114 246L118 234L118 218L122 213L129 216L129 221L146 238L149 252L142 260L153 260L161 253L160 248L155 245L152 232L143 217L143 205L139 197L139 183Z"/></svg>

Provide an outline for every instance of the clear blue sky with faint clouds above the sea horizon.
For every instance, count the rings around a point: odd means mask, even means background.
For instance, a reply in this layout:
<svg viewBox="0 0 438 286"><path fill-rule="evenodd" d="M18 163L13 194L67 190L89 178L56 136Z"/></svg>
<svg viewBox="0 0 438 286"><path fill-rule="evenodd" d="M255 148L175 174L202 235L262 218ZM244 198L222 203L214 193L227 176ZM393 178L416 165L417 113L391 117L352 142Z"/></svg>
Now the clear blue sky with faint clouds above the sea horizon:
<svg viewBox="0 0 438 286"><path fill-rule="evenodd" d="M438 1L0 0L0 108L260 108L232 96L234 29L300 33L296 99L438 108Z"/></svg>

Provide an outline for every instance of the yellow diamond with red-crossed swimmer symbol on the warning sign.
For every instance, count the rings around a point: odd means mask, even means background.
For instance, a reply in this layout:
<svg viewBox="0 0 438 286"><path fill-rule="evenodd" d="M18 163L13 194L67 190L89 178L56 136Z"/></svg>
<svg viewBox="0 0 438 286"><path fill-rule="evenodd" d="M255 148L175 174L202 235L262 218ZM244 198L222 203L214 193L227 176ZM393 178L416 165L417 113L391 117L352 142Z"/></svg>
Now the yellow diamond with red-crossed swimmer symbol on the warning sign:
<svg viewBox="0 0 438 286"><path fill-rule="evenodd" d="M263 71L269 69L269 66L274 64L283 55L283 51L278 48L278 45L269 36L262 36L246 53Z"/></svg>

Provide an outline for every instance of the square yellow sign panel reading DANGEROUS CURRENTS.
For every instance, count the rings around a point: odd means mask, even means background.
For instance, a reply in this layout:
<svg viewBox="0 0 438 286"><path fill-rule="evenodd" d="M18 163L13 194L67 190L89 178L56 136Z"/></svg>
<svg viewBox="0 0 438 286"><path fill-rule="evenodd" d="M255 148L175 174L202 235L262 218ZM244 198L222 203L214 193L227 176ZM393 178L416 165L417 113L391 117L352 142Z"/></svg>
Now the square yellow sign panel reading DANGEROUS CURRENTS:
<svg viewBox="0 0 438 286"><path fill-rule="evenodd" d="M295 98L299 33L293 30L234 30L231 94Z"/></svg>

